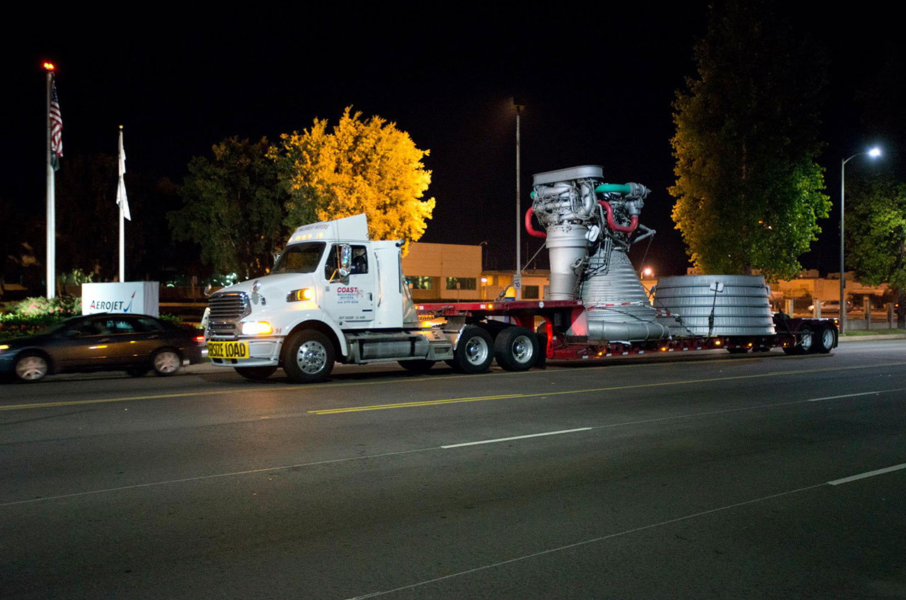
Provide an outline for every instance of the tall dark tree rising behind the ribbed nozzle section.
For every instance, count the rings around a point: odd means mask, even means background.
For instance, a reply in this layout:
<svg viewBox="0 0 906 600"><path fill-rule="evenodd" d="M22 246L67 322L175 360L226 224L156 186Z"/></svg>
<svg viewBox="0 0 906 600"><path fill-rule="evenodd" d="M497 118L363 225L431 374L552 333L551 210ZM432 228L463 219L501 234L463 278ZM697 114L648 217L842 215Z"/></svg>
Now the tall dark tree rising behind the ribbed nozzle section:
<svg viewBox="0 0 906 600"><path fill-rule="evenodd" d="M712 8L673 103L676 227L704 273L795 276L827 216L815 159L824 61L764 0Z"/></svg>

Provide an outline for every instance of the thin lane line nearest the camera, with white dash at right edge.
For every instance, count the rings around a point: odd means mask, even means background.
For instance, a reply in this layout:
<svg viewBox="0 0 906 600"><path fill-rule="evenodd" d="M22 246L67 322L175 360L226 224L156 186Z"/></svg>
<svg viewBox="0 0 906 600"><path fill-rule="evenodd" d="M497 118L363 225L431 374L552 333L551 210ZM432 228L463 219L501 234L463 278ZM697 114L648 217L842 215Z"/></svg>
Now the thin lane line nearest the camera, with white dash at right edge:
<svg viewBox="0 0 906 600"><path fill-rule="evenodd" d="M817 483L812 486L806 486L805 488L791 489L789 491L779 492L777 494L771 494L770 496L763 496L761 498L754 498L754 499L746 500L743 502L728 504L727 506L723 506L723 507L719 507L719 508L711 508L709 510L703 510L701 512L693 513L691 515L686 515L684 517L670 518L666 521L660 521L658 523L651 523L650 525L643 525L641 527L633 527L631 529L625 529L623 531L618 531L616 533L612 533L607 536L592 537L591 539L585 539L585 540L582 540L579 542L575 542L573 544L566 544L566 545L560 546L560 547L548 548L548 549L542 550L540 552L533 552L532 554L516 556L514 558L509 558L507 560L501 560L499 562L492 563L490 565L476 566L475 568L467 569L465 571L458 571L457 573L450 573L445 576L434 577L432 579L425 579L424 581L419 581L417 583L410 584L410 585L400 585L400 587L395 587L390 590L383 590L380 592L371 592L371 594L357 595L357 596L350 598L349 600L365 600L366 598L376 598L381 595L395 594L397 592L412 590L417 587L424 587L425 585L436 584L441 581L452 579L454 577L472 575L473 573L478 573L480 571L487 571L488 569L493 569L498 566L512 565L513 563L522 562L525 560L529 560L531 558L537 558L538 556L545 556L545 555L549 555L549 554L563 552L564 550L571 550L576 547L588 546L590 544L596 544L596 543L599 543L602 541L613 539L615 537L623 537L623 536L628 536L633 533L639 533L641 531L646 531L648 529L653 529L655 527L664 527L667 525L673 525L675 523L687 521L687 520L690 520L693 518L704 517L706 515L713 515L715 513L722 512L725 510L730 510L732 508L739 508L739 507L744 507L744 506L747 506L750 504L757 504L758 502L764 502L766 500L770 500L770 499L774 499L774 498L792 496L793 494L799 494L799 493L802 493L802 492L805 492L805 491L808 491L811 489L823 488L826 485L836 486L841 483L848 483L850 481L855 481L857 479L865 479L867 477L873 477L875 475L881 475L882 473L889 473L891 471L899 470L899 469L906 469L906 463L903 463L901 465L896 465L894 467L888 467L887 469L877 469L877 470L869 471L867 473L862 473L860 475L853 475L853 477L847 477L844 479L834 479L834 481L827 481L826 483Z"/></svg>

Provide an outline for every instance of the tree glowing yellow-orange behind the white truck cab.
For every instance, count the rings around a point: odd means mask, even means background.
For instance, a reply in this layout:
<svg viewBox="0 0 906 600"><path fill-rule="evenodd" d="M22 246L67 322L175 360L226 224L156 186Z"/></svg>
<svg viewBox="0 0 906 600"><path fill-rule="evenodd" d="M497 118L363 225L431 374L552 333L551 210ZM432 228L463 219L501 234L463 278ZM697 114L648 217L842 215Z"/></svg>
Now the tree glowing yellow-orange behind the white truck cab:
<svg viewBox="0 0 906 600"><path fill-rule="evenodd" d="M421 160L429 150L419 150L395 123L362 120L347 107L331 131L315 119L302 133L280 138L269 156L289 190L287 225L365 213L372 239L415 241L424 234L435 205L422 199L431 172Z"/></svg>

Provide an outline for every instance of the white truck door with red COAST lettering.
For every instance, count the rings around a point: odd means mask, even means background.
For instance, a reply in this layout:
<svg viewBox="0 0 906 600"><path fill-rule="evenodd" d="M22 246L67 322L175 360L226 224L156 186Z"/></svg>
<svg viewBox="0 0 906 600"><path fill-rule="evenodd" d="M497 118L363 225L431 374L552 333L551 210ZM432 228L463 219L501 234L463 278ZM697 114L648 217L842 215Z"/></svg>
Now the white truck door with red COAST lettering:
<svg viewBox="0 0 906 600"><path fill-rule="evenodd" d="M376 265L369 247L352 245L352 270L341 277L340 244L334 244L324 263L323 309L344 328L365 329L374 324Z"/></svg>

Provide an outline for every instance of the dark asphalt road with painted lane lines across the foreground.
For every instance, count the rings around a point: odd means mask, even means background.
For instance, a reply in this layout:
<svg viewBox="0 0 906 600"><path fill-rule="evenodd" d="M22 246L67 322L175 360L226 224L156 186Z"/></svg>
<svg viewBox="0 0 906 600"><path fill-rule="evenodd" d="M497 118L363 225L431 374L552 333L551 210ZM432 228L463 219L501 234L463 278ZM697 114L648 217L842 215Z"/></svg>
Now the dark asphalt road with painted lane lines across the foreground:
<svg viewBox="0 0 906 600"><path fill-rule="evenodd" d="M902 340L6 384L0 597L903 598L904 400Z"/></svg>

